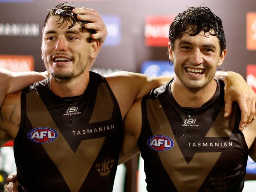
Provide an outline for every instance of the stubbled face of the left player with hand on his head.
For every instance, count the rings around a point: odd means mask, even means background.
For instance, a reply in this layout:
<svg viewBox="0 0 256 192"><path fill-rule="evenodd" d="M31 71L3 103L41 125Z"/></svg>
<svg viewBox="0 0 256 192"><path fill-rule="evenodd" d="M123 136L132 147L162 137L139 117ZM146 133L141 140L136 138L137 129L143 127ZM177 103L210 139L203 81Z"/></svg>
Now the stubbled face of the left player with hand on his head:
<svg viewBox="0 0 256 192"><path fill-rule="evenodd" d="M70 79L89 68L90 34L78 23L70 29L68 21L59 27L62 18L58 20L59 16L51 16L43 30L42 59L50 76Z"/></svg>

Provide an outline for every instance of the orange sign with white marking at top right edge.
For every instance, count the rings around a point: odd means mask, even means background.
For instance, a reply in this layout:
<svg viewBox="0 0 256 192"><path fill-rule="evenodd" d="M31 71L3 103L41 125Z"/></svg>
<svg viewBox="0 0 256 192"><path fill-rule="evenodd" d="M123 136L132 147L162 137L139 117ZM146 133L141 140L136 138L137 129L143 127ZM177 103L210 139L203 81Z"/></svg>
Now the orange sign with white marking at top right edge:
<svg viewBox="0 0 256 192"><path fill-rule="evenodd" d="M256 12L246 14L246 47L248 50L256 50Z"/></svg>

